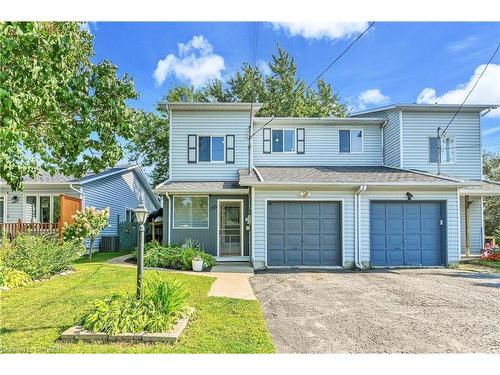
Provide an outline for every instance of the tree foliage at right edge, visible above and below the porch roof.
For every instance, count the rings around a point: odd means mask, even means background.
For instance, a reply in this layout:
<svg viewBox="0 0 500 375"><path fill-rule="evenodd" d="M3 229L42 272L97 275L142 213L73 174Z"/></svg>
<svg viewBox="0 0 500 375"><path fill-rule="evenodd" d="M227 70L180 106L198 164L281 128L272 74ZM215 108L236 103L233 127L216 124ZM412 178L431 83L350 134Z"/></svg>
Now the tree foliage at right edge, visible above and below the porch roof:
<svg viewBox="0 0 500 375"><path fill-rule="evenodd" d="M488 180L500 181L500 153L484 153L483 174ZM500 197L484 199L484 231L489 236L500 236Z"/></svg>

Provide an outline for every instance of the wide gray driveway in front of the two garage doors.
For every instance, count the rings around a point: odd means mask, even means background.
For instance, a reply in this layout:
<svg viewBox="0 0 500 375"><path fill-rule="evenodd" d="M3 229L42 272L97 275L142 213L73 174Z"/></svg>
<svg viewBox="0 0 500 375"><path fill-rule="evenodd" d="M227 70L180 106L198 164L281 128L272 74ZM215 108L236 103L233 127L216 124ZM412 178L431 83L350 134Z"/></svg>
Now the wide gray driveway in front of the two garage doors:
<svg viewBox="0 0 500 375"><path fill-rule="evenodd" d="M264 271L250 281L278 352L500 353L500 274Z"/></svg>

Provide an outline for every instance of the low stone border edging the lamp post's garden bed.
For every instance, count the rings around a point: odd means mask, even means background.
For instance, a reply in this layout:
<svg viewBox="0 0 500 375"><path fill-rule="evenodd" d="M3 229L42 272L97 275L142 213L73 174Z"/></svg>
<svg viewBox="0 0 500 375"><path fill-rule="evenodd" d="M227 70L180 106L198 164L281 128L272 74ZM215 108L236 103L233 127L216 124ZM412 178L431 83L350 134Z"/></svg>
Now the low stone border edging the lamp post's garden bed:
<svg viewBox="0 0 500 375"><path fill-rule="evenodd" d="M81 326L68 328L61 334L61 340L65 342L72 341L107 341L107 342L133 342L133 343L148 343L148 342L176 342L186 329L189 320L191 319L195 309L191 307L188 313L177 320L172 329L168 332L159 333L120 333L118 335L110 335L104 332L87 331Z"/></svg>

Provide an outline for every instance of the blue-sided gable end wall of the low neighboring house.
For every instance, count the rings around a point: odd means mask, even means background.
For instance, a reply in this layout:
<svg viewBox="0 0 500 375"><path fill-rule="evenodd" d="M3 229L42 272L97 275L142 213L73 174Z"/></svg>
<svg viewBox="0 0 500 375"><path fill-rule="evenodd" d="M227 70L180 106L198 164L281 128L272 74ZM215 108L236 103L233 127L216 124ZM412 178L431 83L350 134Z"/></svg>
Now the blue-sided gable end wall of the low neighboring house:
<svg viewBox="0 0 500 375"><path fill-rule="evenodd" d="M125 221L125 210L136 208L144 202L149 212L159 207L146 192L146 186L136 176L135 171L115 174L109 177L89 182L83 185L85 207L104 209L109 207L109 227L102 231L102 235L118 235L118 221ZM101 239L96 241L95 249L99 248Z"/></svg>

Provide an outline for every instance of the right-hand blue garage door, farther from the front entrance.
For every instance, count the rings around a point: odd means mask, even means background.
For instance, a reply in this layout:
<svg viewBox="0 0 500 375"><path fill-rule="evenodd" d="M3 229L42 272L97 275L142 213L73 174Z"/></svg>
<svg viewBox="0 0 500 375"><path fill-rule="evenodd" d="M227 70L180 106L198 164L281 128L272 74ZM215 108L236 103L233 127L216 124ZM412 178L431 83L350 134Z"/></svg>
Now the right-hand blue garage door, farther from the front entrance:
<svg viewBox="0 0 500 375"><path fill-rule="evenodd" d="M443 203L371 202L370 262L376 266L443 264Z"/></svg>

